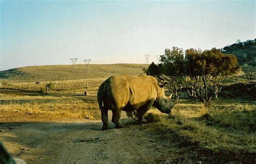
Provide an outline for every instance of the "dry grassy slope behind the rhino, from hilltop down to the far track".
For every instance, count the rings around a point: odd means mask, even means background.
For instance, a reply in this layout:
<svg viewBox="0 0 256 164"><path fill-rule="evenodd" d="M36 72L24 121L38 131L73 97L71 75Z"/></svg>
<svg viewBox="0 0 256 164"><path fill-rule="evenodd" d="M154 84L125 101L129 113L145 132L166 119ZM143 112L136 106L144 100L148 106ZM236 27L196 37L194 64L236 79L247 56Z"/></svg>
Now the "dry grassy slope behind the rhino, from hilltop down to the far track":
<svg viewBox="0 0 256 164"><path fill-rule="evenodd" d="M46 85L52 84L49 93L72 93L96 95L98 86L108 77L122 74L144 73L146 64L102 64L90 65L49 65L27 66L16 70L16 76L0 79L0 87L46 93ZM0 74L8 71L0 71ZM20 75L19 75L20 74ZM36 81L40 82L35 84Z"/></svg>

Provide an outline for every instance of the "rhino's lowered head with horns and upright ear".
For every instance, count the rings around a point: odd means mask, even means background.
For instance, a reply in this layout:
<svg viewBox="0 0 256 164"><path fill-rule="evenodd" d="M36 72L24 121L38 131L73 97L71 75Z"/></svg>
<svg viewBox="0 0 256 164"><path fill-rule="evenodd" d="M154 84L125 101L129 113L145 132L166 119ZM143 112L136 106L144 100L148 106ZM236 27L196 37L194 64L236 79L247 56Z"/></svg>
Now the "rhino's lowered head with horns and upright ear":
<svg viewBox="0 0 256 164"><path fill-rule="evenodd" d="M172 94L169 97L166 97L164 94L164 86L166 85L166 81L164 84L160 86L160 92L158 95L158 99L154 106L162 113L171 113L171 108L177 104L179 97L176 100L171 100Z"/></svg>

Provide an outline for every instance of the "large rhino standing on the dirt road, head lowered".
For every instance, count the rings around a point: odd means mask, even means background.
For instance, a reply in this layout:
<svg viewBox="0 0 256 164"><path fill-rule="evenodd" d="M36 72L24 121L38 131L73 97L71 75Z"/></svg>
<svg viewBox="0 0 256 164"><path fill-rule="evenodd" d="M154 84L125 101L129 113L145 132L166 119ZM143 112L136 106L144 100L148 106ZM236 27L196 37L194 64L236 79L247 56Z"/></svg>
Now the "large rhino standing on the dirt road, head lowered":
<svg viewBox="0 0 256 164"><path fill-rule="evenodd" d="M138 121L145 122L143 115L152 106L160 112L169 114L177 100L170 100L164 93L164 84L158 84L156 78L140 74L139 76L111 76L103 81L97 92L103 127L109 129L108 110L112 111L115 128L123 128L120 122L121 112L137 111Z"/></svg>

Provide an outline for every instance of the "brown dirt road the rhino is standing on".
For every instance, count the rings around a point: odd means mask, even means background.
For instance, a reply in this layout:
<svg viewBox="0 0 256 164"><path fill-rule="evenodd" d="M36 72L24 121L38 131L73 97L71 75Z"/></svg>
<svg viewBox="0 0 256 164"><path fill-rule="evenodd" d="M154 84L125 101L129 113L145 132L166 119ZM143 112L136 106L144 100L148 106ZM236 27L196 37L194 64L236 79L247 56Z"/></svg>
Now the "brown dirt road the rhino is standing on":
<svg viewBox="0 0 256 164"><path fill-rule="evenodd" d="M76 98L97 100L96 97ZM112 129L108 131L101 131L101 120L69 120L61 116L45 120L41 115L10 112L0 115L0 140L15 157L27 163L155 163L165 162L170 156L172 161L179 159L173 145L150 136L142 130L145 125L127 119L125 112L122 122L126 127L114 129L110 121ZM29 117L33 118L28 122Z"/></svg>

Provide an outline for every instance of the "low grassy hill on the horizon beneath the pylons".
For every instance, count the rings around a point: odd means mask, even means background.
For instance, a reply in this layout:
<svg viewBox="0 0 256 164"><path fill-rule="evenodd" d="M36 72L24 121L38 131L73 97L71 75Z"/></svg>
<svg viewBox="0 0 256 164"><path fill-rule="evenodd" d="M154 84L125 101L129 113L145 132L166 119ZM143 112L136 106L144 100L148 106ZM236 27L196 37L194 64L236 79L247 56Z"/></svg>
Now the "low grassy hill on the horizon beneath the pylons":
<svg viewBox="0 0 256 164"><path fill-rule="evenodd" d="M0 71L0 80L13 82L56 81L102 78L120 74L140 74L146 64L91 64L26 66Z"/></svg>

